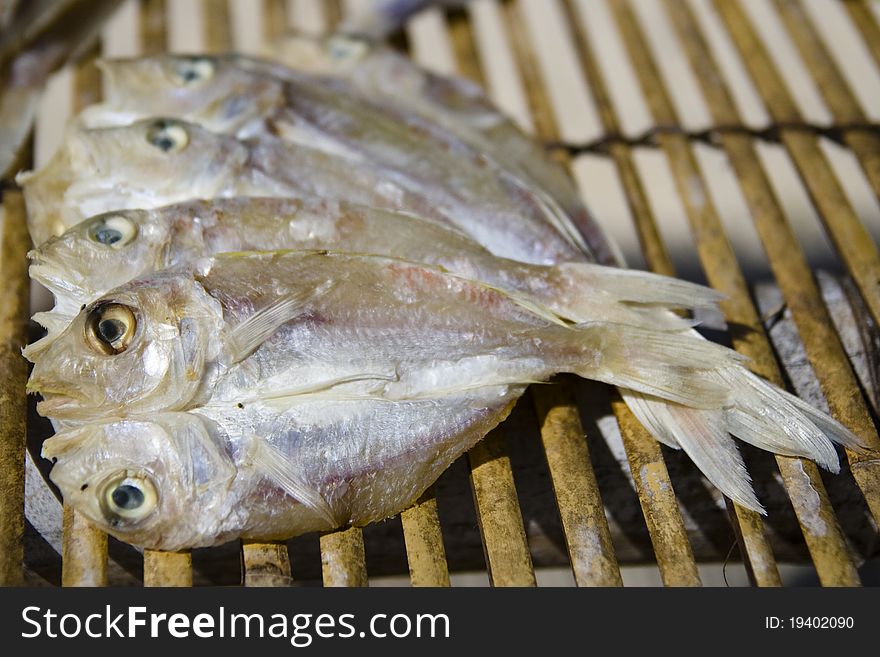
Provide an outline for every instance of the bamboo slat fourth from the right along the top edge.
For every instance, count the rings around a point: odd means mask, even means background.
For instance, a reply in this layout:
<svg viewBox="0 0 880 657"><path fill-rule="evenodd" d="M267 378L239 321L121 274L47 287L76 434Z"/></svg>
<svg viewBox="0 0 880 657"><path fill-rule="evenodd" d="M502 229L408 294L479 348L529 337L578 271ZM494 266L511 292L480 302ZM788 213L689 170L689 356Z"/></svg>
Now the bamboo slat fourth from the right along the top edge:
<svg viewBox="0 0 880 657"><path fill-rule="evenodd" d="M741 120L720 69L686 5L666 0L691 67L717 124ZM870 449L880 449L877 429L859 389L840 338L822 300L803 250L792 231L750 137L724 134L720 142L746 197L755 227L767 253L786 305L797 324L807 358L816 374L831 414L848 426ZM880 472L876 455L848 452L853 477L862 490L875 522L880 524Z"/></svg>

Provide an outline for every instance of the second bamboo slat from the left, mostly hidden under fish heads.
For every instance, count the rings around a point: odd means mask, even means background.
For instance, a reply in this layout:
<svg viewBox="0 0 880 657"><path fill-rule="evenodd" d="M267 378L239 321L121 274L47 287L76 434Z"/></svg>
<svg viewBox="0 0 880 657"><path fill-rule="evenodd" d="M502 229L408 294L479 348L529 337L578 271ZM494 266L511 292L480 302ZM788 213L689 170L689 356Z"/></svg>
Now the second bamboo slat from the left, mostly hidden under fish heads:
<svg viewBox="0 0 880 657"><path fill-rule="evenodd" d="M97 50L73 70L71 110L79 112L101 97L101 80L95 66ZM107 585L107 535L65 504L61 527L62 586Z"/></svg>

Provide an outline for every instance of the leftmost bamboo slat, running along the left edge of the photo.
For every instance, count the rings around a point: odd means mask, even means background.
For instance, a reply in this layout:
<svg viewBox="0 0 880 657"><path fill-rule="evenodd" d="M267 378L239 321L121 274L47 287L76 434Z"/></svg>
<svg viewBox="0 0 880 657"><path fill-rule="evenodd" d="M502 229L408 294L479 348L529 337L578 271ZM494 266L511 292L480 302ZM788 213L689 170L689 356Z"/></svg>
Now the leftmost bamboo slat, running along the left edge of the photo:
<svg viewBox="0 0 880 657"><path fill-rule="evenodd" d="M30 236L24 199L18 190L3 192L0 231L0 586L24 582L24 459L27 433L27 344L30 285L27 259Z"/></svg>

